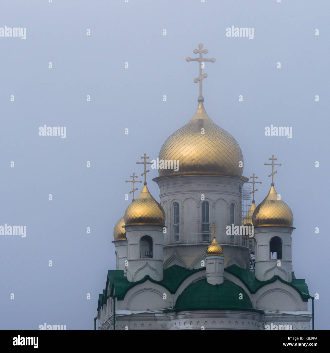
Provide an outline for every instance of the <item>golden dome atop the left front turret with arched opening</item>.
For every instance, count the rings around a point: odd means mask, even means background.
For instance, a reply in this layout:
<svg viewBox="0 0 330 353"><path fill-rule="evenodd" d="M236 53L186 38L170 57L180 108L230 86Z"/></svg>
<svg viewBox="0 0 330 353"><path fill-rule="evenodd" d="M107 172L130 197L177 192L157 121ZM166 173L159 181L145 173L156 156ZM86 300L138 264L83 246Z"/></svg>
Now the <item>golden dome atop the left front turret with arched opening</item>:
<svg viewBox="0 0 330 353"><path fill-rule="evenodd" d="M125 226L133 224L164 226L165 212L161 205L150 195L146 185L143 186L138 198L127 207L124 221Z"/></svg>

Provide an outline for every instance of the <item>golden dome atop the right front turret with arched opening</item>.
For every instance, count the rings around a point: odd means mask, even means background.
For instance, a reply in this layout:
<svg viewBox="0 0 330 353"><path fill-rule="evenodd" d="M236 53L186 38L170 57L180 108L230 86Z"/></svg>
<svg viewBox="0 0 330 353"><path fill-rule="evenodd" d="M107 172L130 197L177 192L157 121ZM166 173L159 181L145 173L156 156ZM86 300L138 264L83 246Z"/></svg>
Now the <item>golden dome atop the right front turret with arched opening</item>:
<svg viewBox="0 0 330 353"><path fill-rule="evenodd" d="M272 186L264 201L254 210L252 221L254 227L292 227L293 214L285 202L277 200L277 192Z"/></svg>

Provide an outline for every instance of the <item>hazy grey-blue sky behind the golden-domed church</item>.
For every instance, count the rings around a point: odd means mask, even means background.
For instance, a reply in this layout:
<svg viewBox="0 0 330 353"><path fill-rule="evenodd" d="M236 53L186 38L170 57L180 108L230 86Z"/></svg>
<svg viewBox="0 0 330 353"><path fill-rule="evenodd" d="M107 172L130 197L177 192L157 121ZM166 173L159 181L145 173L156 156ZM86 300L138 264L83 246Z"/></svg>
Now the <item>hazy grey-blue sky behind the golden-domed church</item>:
<svg viewBox="0 0 330 353"><path fill-rule="evenodd" d="M329 2L301 0L1 1L0 27L26 27L26 39L0 37L0 225L27 234L0 235L0 329L94 328L125 180L194 114L198 65L185 59L200 42L216 58L206 112L238 141L243 175L263 182L257 204L271 183L264 163L282 163L274 182L294 215L293 270L319 293L315 328L329 329L329 13ZM253 27L253 40L226 37L232 25ZM66 138L38 136L44 124L66 126ZM265 136L270 124L293 137ZM148 174L159 200L157 170Z"/></svg>

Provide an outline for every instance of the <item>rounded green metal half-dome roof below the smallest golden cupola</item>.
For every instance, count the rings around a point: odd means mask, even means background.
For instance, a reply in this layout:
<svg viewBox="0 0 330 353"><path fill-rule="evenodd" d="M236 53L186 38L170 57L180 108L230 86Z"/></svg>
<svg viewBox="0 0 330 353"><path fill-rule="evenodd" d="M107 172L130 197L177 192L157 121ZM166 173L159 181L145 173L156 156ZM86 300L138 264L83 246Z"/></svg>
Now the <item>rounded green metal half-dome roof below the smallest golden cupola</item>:
<svg viewBox="0 0 330 353"><path fill-rule="evenodd" d="M173 311L204 309L244 310L252 309L252 304L244 289L233 282L224 280L221 285L211 285L203 279L192 283L179 295Z"/></svg>

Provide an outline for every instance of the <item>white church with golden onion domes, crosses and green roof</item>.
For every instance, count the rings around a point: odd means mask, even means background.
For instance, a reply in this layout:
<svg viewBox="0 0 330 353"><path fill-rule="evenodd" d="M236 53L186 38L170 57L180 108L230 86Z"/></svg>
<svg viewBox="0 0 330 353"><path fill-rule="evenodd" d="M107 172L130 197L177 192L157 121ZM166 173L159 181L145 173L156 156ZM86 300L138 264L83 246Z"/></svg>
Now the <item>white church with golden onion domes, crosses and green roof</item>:
<svg viewBox="0 0 330 353"><path fill-rule="evenodd" d="M144 167L143 186L135 173L126 181L133 185L133 200L114 226L116 269L108 270L99 294L94 328L312 329L307 304L314 298L292 268L293 214L275 190L274 168L281 163L274 163L274 155L264 163L272 169L271 185L256 205L260 182L255 174L252 181L242 175L238 142L204 108L202 82L208 75L202 70L215 59L203 57L203 44L194 53L199 57L186 60L199 63L196 113L168 137L158 156L178 161L178 168L167 163L158 169L153 181L160 202L148 190L153 162L146 154L137 162ZM142 186L136 199L135 183Z"/></svg>

